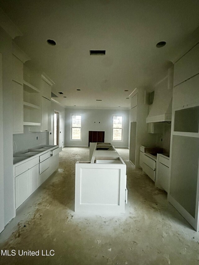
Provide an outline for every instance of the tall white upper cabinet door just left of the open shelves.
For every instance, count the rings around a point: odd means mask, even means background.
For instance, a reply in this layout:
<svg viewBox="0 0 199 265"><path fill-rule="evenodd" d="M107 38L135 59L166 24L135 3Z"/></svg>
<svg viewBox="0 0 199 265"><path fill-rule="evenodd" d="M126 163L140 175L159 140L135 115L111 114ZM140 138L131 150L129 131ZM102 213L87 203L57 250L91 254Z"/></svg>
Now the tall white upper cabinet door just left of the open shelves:
<svg viewBox="0 0 199 265"><path fill-rule="evenodd" d="M13 133L23 133L23 86L12 81Z"/></svg>

